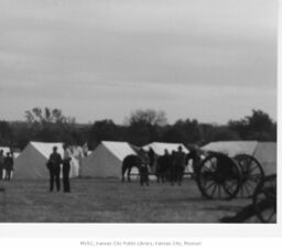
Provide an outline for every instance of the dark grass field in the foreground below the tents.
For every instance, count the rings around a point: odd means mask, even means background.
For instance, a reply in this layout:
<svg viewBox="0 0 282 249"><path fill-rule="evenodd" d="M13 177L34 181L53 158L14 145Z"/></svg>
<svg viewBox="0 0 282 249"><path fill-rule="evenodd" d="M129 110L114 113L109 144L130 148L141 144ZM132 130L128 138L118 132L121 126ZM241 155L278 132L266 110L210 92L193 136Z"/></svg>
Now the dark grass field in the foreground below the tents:
<svg viewBox="0 0 282 249"><path fill-rule="evenodd" d="M248 199L207 201L196 183L182 186L76 178L72 193L48 193L47 181L0 182L1 223L218 223ZM6 199L6 201L4 201Z"/></svg>

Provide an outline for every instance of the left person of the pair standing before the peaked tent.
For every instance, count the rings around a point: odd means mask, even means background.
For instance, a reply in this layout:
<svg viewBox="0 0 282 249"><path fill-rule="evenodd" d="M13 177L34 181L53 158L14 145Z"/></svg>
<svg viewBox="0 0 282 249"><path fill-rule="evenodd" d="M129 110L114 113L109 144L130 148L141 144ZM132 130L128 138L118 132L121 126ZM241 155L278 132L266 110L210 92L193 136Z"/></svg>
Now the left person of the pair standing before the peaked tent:
<svg viewBox="0 0 282 249"><path fill-rule="evenodd" d="M59 173L61 173L62 156L57 153L57 147L53 147L53 153L50 155L47 169L50 171L50 192L53 192L54 182L56 183L57 192L59 192Z"/></svg>

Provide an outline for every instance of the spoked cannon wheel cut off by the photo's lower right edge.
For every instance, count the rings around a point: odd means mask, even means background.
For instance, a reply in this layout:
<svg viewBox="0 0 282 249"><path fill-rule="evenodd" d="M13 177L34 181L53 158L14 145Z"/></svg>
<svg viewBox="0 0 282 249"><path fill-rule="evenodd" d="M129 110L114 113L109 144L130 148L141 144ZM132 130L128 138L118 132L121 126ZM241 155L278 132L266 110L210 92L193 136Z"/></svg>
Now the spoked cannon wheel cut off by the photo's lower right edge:
<svg viewBox="0 0 282 249"><path fill-rule="evenodd" d="M276 175L269 175L258 184L252 202L261 223L276 223Z"/></svg>

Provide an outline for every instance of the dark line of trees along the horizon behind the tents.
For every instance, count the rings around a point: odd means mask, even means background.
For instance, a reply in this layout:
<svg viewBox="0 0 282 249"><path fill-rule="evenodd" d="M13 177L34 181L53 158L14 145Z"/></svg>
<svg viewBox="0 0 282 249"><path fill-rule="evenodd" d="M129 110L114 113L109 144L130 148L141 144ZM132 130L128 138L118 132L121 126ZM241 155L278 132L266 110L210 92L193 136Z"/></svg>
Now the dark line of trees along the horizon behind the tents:
<svg viewBox="0 0 282 249"><path fill-rule="evenodd" d="M164 111L135 110L123 124L111 119L80 124L59 109L33 108L24 121L0 121L0 145L23 149L29 141L88 144L94 150L102 140L127 141L144 145L153 141L204 145L212 141L276 141L276 123L262 110L230 120L226 124L202 123L196 119L180 119L169 124Z"/></svg>

